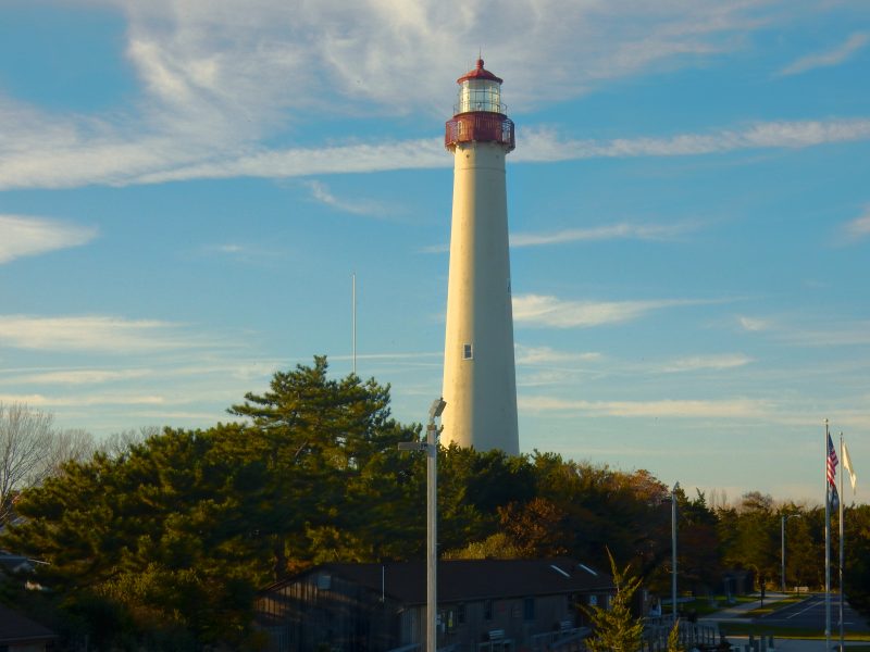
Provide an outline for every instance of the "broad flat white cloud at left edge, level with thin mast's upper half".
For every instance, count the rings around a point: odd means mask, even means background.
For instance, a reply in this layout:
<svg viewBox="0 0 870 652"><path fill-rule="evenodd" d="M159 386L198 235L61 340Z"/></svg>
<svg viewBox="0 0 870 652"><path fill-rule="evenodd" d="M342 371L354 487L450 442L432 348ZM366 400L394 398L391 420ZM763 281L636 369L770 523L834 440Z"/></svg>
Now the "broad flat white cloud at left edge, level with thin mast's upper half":
<svg viewBox="0 0 870 652"><path fill-rule="evenodd" d="M206 346L201 338L182 333L178 324L104 315L0 315L0 342L5 348L114 354Z"/></svg>

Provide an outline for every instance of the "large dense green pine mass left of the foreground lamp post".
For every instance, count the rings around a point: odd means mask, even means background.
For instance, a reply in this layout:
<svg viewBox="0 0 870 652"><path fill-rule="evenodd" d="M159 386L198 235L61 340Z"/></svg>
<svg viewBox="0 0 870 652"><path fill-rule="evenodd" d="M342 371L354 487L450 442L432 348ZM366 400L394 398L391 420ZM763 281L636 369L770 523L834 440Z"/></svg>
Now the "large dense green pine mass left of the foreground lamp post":
<svg viewBox="0 0 870 652"><path fill-rule="evenodd" d="M100 649L244 648L257 588L424 540L407 535L413 518L424 527L409 500L424 496L424 461L396 447L418 429L390 418L387 387L326 371L316 358L275 374L231 409L246 423L167 428L67 464L23 492L0 546L46 562L34 579Z"/></svg>

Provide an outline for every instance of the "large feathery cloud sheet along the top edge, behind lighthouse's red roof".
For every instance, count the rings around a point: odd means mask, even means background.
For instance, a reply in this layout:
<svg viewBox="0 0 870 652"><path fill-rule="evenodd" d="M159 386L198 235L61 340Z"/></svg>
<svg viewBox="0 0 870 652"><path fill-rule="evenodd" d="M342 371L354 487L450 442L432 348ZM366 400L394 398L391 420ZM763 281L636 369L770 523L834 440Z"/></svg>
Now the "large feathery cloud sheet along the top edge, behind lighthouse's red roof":
<svg viewBox="0 0 870 652"><path fill-rule="evenodd" d="M535 0L496 13L462 0L188 0L184 11L172 0L113 1L128 20L127 57L154 102L190 122L236 115L241 128L303 110L431 111L457 76L455 59L432 53L464 53L471 67L481 42L492 43L487 58L511 79L514 105L539 102L543 87L548 100L564 99L663 62L741 48L765 17L753 3L714 0ZM529 66L530 51L537 66Z"/></svg>

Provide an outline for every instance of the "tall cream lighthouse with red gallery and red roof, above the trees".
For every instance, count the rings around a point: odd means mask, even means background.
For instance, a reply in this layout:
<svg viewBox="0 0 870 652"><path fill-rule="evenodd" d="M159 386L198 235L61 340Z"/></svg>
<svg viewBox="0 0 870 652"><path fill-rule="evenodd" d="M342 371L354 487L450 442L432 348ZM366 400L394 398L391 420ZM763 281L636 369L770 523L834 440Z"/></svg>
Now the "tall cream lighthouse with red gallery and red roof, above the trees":
<svg viewBox="0 0 870 652"><path fill-rule="evenodd" d="M445 147L453 209L444 349L445 444L520 452L505 156L515 146L501 79L482 59L457 79Z"/></svg>

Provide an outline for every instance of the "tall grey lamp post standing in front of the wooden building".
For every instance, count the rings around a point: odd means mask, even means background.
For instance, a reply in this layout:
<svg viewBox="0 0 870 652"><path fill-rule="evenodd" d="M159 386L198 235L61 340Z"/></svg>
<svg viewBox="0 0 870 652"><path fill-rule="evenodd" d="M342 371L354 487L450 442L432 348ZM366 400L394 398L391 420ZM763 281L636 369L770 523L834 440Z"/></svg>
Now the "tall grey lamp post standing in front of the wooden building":
<svg viewBox="0 0 870 652"><path fill-rule="evenodd" d="M442 415L444 399L435 399L428 410L426 441L401 441L400 451L425 451L426 453L426 652L436 652L438 619L438 426L435 419Z"/></svg>

